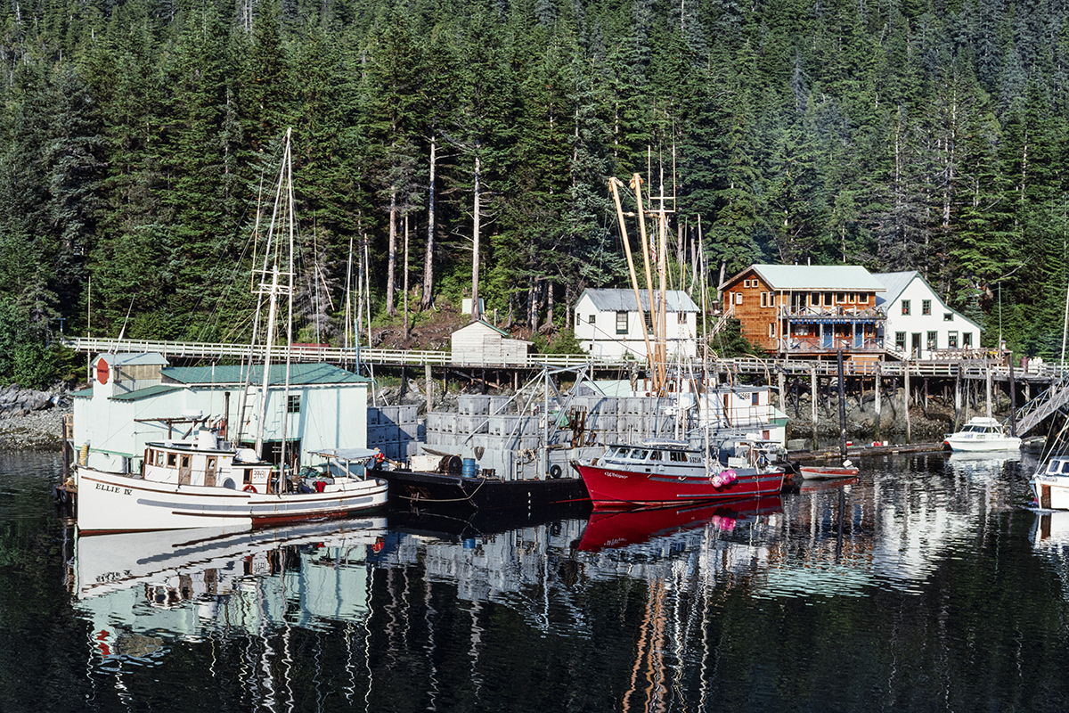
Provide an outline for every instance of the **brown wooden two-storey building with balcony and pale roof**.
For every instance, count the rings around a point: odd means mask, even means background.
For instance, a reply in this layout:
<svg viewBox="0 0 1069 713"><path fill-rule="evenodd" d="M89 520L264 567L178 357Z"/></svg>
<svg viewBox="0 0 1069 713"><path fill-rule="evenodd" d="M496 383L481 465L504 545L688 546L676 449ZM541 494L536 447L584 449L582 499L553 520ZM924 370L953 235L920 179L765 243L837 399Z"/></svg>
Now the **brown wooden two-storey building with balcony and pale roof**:
<svg viewBox="0 0 1069 713"><path fill-rule="evenodd" d="M779 357L883 357L886 291L859 265L750 265L721 285L724 309L753 344Z"/></svg>

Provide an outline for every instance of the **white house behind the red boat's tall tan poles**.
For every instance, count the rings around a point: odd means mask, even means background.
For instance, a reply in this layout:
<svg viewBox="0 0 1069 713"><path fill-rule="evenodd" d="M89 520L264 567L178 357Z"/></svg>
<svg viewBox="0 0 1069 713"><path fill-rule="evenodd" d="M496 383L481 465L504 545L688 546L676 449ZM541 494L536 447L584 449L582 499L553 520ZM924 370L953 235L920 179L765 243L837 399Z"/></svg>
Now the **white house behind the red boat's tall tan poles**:
<svg viewBox="0 0 1069 713"><path fill-rule="evenodd" d="M587 289L575 303L575 339L590 356L620 359L630 355L646 361L642 330L650 330L650 293L638 291L641 312L635 304L634 290ZM653 292L654 312L660 313L659 291ZM668 355L693 357L698 354L698 306L682 290L665 293ZM657 319L656 316L652 319ZM652 339L652 335L650 335Z"/></svg>

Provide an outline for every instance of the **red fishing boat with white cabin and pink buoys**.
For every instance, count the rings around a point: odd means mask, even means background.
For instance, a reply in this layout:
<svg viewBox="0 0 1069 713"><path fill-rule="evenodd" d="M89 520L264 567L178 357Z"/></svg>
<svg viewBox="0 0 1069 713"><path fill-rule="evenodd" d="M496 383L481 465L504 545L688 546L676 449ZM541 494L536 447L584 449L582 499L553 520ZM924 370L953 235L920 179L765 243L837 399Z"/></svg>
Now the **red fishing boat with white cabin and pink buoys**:
<svg viewBox="0 0 1069 713"><path fill-rule="evenodd" d="M779 493L777 446L740 441L727 464L675 440L609 446L601 458L573 461L594 507L738 500Z"/></svg>

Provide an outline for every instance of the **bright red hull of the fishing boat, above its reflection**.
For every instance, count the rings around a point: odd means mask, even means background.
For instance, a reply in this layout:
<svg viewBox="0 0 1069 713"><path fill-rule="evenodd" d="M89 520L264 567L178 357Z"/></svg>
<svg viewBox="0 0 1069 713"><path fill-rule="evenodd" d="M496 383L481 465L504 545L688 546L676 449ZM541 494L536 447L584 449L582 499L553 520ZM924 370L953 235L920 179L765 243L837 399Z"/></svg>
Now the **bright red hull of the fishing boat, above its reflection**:
<svg viewBox="0 0 1069 713"><path fill-rule="evenodd" d="M739 470L735 480L714 485L703 470L693 476L666 476L579 463L574 467L583 476L595 508L739 500L777 495L784 485L783 470Z"/></svg>

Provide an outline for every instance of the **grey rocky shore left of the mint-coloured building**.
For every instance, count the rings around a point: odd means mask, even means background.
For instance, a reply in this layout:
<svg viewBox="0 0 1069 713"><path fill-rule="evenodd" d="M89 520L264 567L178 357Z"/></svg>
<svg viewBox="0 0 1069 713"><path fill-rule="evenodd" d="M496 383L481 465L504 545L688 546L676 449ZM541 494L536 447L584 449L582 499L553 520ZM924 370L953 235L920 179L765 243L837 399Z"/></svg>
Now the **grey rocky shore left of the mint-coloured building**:
<svg viewBox="0 0 1069 713"><path fill-rule="evenodd" d="M47 391L15 384L0 389L0 449L59 450L63 444L63 417L71 413L66 385Z"/></svg>

